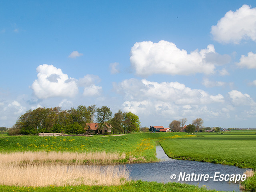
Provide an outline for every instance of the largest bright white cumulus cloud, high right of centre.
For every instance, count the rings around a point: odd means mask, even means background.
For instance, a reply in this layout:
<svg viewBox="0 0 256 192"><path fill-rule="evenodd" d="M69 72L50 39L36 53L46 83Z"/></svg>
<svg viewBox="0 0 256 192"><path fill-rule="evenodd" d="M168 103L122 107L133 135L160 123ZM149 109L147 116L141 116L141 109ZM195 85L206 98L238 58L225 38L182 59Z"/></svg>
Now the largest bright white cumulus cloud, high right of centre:
<svg viewBox="0 0 256 192"><path fill-rule="evenodd" d="M196 73L213 74L215 65L230 61L230 57L221 56L215 52L213 45L206 49L187 53L168 41L158 43L151 41L136 42L131 48L130 62L136 74L189 75Z"/></svg>

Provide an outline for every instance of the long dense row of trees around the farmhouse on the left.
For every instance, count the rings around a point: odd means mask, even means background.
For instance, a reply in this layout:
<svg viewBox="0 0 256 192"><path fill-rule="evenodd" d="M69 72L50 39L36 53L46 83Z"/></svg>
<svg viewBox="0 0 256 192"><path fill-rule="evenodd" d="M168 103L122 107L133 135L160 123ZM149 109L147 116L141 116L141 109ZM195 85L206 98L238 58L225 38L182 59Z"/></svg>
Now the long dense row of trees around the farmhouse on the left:
<svg viewBox="0 0 256 192"><path fill-rule="evenodd" d="M132 112L119 110L112 117L109 107L96 105L80 105L76 109L61 110L60 107L37 108L28 110L22 114L14 126L8 130L9 135L38 134L39 132L59 132L66 134L92 134L90 123L96 122L98 129L103 129L106 124L111 124L111 132L129 133L137 132L140 128L140 120ZM89 127L86 127L89 123ZM85 128L86 127L86 128Z"/></svg>

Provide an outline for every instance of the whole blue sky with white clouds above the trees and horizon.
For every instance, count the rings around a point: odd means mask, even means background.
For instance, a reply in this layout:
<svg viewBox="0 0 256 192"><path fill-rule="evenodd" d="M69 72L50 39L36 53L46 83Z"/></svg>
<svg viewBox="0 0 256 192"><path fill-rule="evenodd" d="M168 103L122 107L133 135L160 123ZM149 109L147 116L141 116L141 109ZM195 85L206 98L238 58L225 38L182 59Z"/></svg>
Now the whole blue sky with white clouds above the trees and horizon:
<svg viewBox="0 0 256 192"><path fill-rule="evenodd" d="M0 0L0 126L27 110L256 127L255 0Z"/></svg>

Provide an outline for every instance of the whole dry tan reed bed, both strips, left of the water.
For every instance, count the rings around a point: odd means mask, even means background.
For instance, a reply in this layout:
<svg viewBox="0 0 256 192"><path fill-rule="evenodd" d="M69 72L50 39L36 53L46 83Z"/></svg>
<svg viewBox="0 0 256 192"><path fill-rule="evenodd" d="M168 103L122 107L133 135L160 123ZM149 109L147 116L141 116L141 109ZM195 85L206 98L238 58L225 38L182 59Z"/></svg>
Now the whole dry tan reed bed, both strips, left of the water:
<svg viewBox="0 0 256 192"><path fill-rule="evenodd" d="M125 166L79 165L79 161L110 162L118 153L14 152L0 154L0 184L15 186L119 185L129 179ZM77 164L67 165L75 159ZM56 160L61 160L56 163ZM23 164L21 162L30 162ZM42 162L49 161L47 164Z"/></svg>

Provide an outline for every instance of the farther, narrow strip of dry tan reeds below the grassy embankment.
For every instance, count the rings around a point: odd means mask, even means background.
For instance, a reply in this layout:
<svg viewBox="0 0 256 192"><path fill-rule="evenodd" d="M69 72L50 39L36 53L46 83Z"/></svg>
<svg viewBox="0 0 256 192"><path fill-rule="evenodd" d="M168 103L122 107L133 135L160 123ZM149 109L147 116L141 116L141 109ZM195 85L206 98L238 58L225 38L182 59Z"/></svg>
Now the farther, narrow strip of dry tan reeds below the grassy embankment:
<svg viewBox="0 0 256 192"><path fill-rule="evenodd" d="M89 152L89 153L78 153L78 152L12 152L12 153L1 153L0 159L4 163L72 163L72 164L114 164L119 160L125 159L125 153L119 154L117 152ZM10 161L11 160L11 161Z"/></svg>

